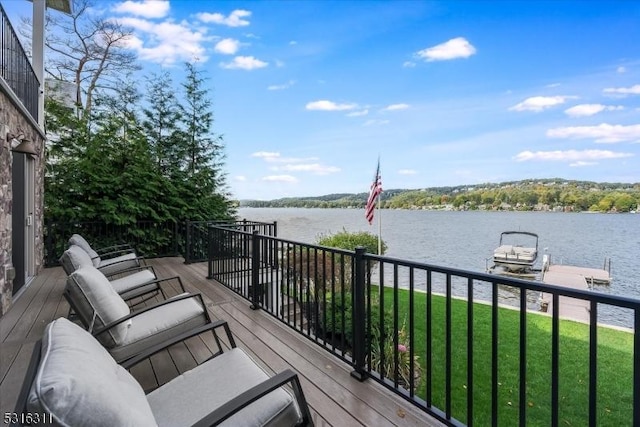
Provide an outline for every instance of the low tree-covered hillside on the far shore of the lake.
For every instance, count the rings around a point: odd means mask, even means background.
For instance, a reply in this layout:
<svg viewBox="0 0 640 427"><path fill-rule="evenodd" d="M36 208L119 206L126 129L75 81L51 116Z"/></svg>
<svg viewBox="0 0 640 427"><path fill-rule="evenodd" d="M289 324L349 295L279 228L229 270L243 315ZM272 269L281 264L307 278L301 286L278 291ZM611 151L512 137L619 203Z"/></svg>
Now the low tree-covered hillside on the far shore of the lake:
<svg viewBox="0 0 640 427"><path fill-rule="evenodd" d="M269 201L243 200L240 206L364 208L367 197L368 193L339 193ZM637 212L640 183L529 179L417 190L385 189L380 200L385 209Z"/></svg>

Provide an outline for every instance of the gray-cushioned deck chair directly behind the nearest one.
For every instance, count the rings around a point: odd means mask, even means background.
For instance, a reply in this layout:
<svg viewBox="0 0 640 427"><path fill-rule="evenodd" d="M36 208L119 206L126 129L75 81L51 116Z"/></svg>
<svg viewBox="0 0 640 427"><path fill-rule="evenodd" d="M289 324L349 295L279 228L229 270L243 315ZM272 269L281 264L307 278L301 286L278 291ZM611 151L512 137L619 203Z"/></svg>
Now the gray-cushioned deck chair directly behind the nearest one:
<svg viewBox="0 0 640 427"><path fill-rule="evenodd" d="M116 361L210 322L200 294L181 294L131 312L127 303L95 267L80 267L63 292L73 312Z"/></svg>

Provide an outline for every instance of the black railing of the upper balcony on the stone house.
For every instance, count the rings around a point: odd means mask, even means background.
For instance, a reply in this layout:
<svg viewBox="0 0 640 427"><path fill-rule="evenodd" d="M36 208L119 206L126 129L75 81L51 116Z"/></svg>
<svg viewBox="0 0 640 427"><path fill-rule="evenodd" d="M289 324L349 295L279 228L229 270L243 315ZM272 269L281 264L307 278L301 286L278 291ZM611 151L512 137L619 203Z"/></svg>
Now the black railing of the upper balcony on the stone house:
<svg viewBox="0 0 640 427"><path fill-rule="evenodd" d="M38 93L40 83L31 66L29 57L18 39L9 18L0 4L0 77L4 79L16 97L22 102L31 117L37 122Z"/></svg>

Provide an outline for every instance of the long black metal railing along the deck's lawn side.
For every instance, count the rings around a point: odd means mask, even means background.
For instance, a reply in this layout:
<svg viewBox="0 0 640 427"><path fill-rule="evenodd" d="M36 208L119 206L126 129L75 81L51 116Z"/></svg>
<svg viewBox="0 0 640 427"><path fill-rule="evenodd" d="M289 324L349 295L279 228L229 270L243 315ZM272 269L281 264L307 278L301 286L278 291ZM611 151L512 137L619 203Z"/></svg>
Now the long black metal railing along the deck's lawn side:
<svg viewBox="0 0 640 427"><path fill-rule="evenodd" d="M209 278L448 425L640 425L638 300L224 227L209 251Z"/></svg>

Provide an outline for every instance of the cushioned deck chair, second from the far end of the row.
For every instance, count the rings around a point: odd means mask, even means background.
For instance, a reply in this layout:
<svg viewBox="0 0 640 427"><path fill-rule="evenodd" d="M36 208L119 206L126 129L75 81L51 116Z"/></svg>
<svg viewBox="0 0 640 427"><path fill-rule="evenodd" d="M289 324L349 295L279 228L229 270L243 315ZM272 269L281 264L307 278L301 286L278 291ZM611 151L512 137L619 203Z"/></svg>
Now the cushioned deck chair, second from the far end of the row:
<svg viewBox="0 0 640 427"><path fill-rule="evenodd" d="M60 264L67 276L71 275L80 267L93 266L89 254L78 245L71 245L60 257ZM98 268L102 273L102 269ZM153 298L161 293L163 299L167 299L163 283L177 281L181 292L184 292L182 280L178 276L159 279L152 266L130 267L117 273L105 275L109 279L109 284L124 299L130 301L141 297L136 302L142 303L149 298Z"/></svg>

